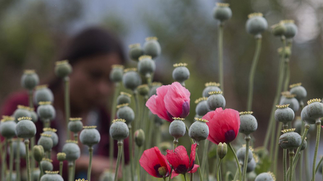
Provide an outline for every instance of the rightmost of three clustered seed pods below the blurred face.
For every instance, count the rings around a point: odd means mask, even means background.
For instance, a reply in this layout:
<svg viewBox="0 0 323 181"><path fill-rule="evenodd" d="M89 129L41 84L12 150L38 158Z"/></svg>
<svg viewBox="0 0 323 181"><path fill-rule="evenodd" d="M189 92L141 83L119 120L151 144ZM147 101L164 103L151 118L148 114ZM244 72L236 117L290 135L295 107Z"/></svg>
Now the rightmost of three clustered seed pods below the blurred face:
<svg viewBox="0 0 323 181"><path fill-rule="evenodd" d="M92 147L94 144L100 142L100 133L95 129L96 126L83 126L80 134L80 141L82 144Z"/></svg>

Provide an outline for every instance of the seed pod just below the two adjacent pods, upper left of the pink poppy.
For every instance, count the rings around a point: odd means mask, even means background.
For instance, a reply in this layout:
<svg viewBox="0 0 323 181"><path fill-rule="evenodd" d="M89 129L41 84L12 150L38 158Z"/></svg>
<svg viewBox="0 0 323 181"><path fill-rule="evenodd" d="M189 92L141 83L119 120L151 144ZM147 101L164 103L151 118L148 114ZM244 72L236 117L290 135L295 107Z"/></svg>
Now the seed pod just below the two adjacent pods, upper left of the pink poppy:
<svg viewBox="0 0 323 181"><path fill-rule="evenodd" d="M155 61L152 59L151 56L148 55L140 56L137 66L138 72L146 78L150 78L156 70Z"/></svg>

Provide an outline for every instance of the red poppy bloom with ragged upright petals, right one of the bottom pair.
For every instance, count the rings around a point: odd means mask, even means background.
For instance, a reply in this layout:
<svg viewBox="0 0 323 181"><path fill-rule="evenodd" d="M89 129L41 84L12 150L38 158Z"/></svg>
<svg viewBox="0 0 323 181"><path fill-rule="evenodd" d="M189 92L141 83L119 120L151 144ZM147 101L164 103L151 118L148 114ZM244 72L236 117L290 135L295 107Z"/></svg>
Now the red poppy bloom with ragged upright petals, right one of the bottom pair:
<svg viewBox="0 0 323 181"><path fill-rule="evenodd" d="M179 174L195 173L199 165L195 165L196 144L191 146L191 154L188 158L187 151L184 146L180 145L175 150L167 150L166 158L174 171L171 179Z"/></svg>

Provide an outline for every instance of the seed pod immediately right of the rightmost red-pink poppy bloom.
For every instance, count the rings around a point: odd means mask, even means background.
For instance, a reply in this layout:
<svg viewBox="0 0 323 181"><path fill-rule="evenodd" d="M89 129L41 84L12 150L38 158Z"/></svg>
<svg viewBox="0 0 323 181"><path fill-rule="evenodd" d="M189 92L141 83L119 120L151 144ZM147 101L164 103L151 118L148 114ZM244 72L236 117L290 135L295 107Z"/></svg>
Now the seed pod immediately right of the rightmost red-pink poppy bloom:
<svg viewBox="0 0 323 181"><path fill-rule="evenodd" d="M240 112L240 129L239 132L244 135L250 135L255 132L258 128L256 118L251 115L252 111Z"/></svg>

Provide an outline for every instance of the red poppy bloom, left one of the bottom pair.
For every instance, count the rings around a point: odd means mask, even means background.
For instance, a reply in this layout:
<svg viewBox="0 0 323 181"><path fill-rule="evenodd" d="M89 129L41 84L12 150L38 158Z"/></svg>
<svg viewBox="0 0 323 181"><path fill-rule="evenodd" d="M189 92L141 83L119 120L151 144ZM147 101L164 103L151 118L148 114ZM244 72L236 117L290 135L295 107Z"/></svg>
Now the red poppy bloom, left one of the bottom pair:
<svg viewBox="0 0 323 181"><path fill-rule="evenodd" d="M139 163L153 177L168 177L171 172L165 155L161 154L157 146L145 150ZM161 173L164 173L164 175L161 175Z"/></svg>

